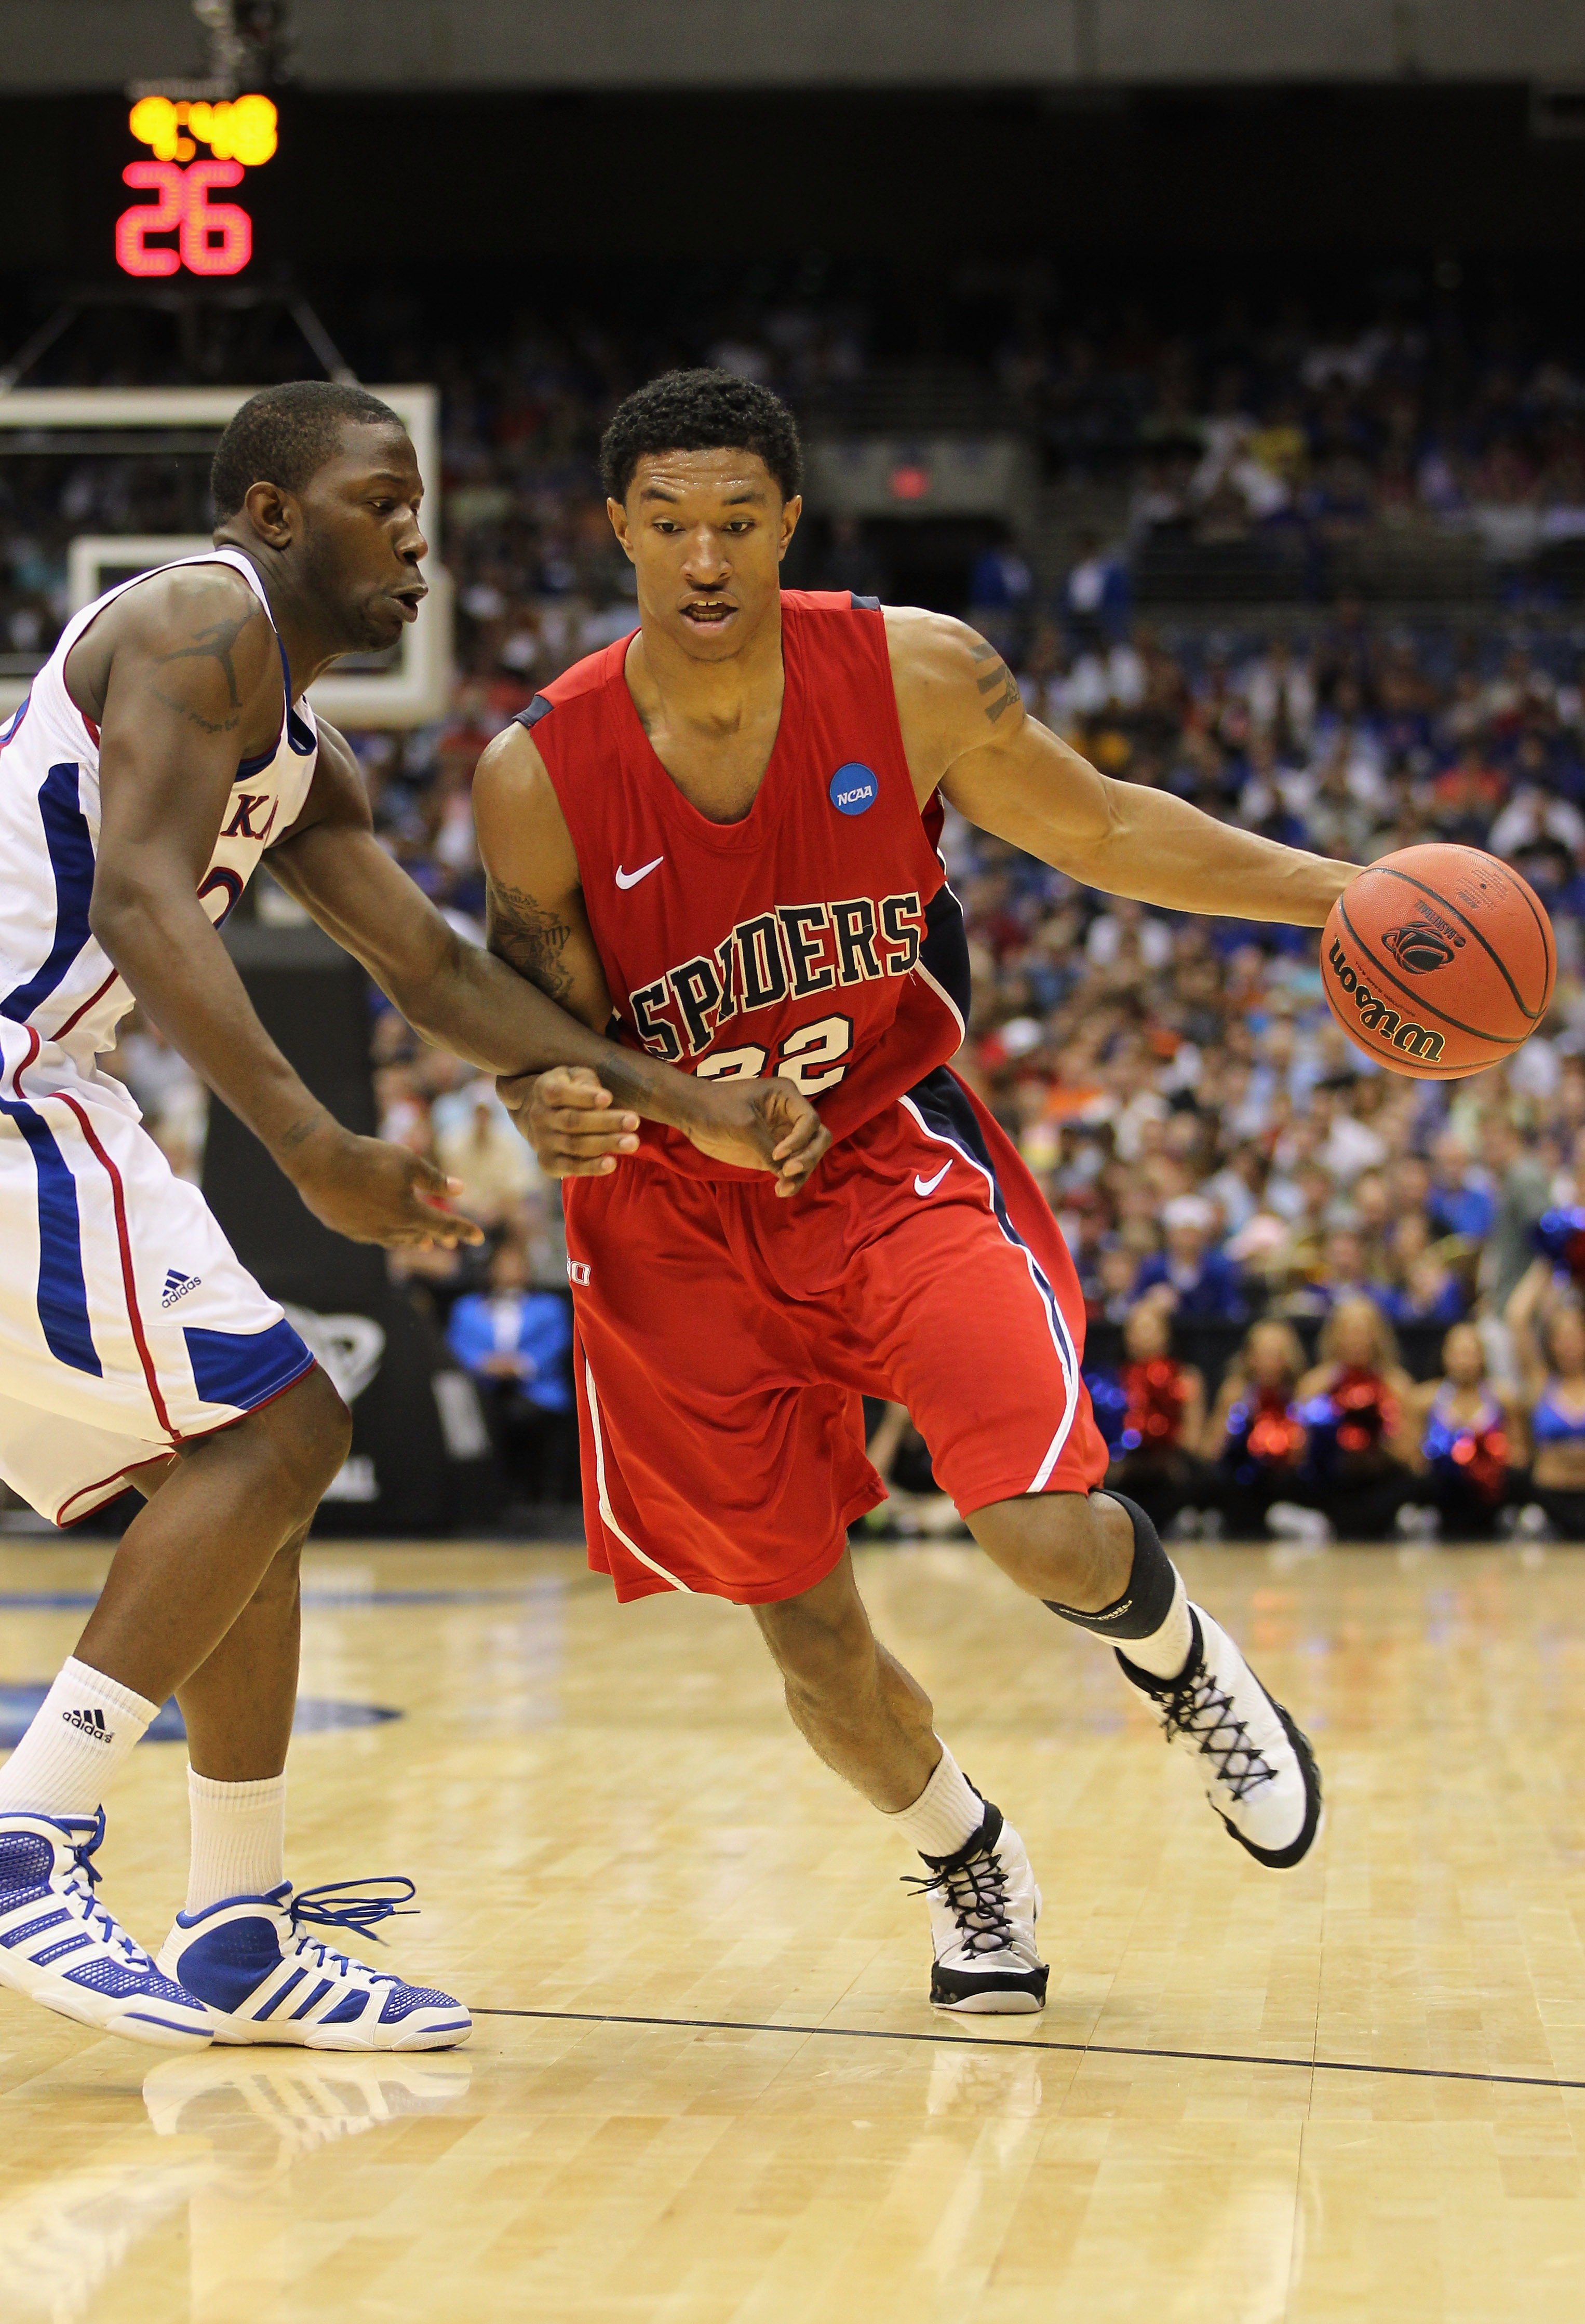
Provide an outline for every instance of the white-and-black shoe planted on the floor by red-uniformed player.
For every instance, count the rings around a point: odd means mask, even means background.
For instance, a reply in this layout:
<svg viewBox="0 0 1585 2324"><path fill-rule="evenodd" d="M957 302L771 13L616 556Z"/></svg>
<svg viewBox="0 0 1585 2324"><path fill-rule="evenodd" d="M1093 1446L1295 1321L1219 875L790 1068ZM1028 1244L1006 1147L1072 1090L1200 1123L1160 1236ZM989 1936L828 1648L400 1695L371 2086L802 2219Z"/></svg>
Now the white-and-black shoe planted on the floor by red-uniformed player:
<svg viewBox="0 0 1585 2324"><path fill-rule="evenodd" d="M925 1857L909 1875L930 1906L930 2001L964 2015L1025 2015L1046 2008L1050 1971L1034 1943L1041 1892L1023 1841L985 1801L981 1829L951 1857Z"/></svg>

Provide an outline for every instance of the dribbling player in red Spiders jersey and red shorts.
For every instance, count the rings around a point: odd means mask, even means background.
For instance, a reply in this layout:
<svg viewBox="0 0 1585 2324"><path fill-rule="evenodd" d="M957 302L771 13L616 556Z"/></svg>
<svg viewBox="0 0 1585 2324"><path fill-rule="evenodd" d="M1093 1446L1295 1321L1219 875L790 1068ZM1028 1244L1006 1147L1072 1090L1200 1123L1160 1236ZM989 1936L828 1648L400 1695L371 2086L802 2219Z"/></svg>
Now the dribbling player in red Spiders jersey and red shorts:
<svg viewBox="0 0 1585 2324"><path fill-rule="evenodd" d="M1083 1306L1050 1211L948 1071L969 1009L941 799L1090 888L1320 927L1348 871L1113 783L1025 716L937 614L783 593L786 404L676 372L616 411L604 476L637 634L579 662L479 762L490 944L588 1025L700 1076L783 1074L837 1143L806 1190L611 1113L593 1071L516 1083L565 1188L590 1564L623 1599L753 1606L813 1750L923 1855L958 2010L1046 1996L1039 1889L874 1638L846 1550L883 1487L860 1397L913 1413L1002 1571L1118 1641L1227 1829L1297 1864L1304 1736L1188 1604L1148 1515L1097 1492Z"/></svg>

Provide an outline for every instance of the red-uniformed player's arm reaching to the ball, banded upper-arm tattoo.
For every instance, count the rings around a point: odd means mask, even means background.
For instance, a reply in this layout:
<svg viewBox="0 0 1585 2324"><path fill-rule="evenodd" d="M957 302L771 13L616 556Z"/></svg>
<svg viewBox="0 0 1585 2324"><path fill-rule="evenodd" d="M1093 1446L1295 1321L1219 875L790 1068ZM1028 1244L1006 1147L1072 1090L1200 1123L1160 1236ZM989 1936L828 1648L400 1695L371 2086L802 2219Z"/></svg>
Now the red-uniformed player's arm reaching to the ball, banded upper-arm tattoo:
<svg viewBox="0 0 1585 2324"><path fill-rule="evenodd" d="M1285 848L1146 783L1118 783L1025 713L995 646L944 614L885 616L920 802L941 786L981 830L1085 888L1167 911L1320 927L1357 865Z"/></svg>

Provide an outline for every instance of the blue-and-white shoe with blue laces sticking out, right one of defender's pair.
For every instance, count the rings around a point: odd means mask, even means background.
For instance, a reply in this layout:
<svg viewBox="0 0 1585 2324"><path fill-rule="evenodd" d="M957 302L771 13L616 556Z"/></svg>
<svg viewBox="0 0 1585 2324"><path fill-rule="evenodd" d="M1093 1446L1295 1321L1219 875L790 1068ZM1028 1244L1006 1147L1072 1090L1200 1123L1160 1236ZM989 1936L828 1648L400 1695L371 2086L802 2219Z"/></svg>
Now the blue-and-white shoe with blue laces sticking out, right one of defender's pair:
<svg viewBox="0 0 1585 2324"><path fill-rule="evenodd" d="M395 1887L397 1896L372 1896ZM363 1894L349 1896L349 1889ZM456 2050L474 2020L451 1994L404 1985L390 1971L335 1952L311 1929L360 1929L414 1894L404 1878L325 1880L293 1896L291 1880L267 1896L228 1896L202 1913L179 1913L160 1948L160 1968L209 2006L218 2043L291 2043L304 2050ZM330 1899L339 1899L332 1903Z"/></svg>

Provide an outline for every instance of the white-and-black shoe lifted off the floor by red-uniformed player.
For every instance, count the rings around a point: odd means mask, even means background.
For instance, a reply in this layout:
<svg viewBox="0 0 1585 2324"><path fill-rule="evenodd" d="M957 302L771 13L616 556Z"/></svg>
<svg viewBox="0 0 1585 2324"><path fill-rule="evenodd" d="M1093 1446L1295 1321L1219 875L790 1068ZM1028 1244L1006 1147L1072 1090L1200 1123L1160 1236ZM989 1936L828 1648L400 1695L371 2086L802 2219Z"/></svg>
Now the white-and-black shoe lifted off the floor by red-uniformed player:
<svg viewBox="0 0 1585 2324"><path fill-rule="evenodd" d="M1195 1762L1206 1799L1260 1864L1285 1868L1320 1831L1320 1769L1308 1738L1260 1685L1220 1622L1190 1606L1195 1643L1176 1678L1153 1678L1118 1648L1167 1741Z"/></svg>

